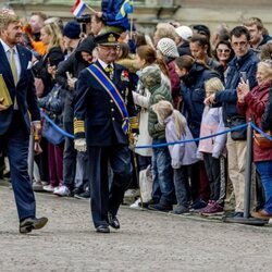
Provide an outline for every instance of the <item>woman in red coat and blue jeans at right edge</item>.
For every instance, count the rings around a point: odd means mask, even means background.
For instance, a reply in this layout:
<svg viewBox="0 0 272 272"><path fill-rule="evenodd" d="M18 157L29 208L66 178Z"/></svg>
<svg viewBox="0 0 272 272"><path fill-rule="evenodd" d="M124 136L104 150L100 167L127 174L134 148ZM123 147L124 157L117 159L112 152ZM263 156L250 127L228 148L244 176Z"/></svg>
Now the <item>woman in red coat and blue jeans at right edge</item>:
<svg viewBox="0 0 272 272"><path fill-rule="evenodd" d="M272 83L272 61L265 60L258 64L256 79L258 86L251 91L249 86L242 79L237 87L237 109L249 121L261 127L261 116L265 110L269 99L269 90ZM261 149L254 143L254 162L260 174L265 193L265 205L262 210L254 212L252 215L260 219L272 218L272 148Z"/></svg>

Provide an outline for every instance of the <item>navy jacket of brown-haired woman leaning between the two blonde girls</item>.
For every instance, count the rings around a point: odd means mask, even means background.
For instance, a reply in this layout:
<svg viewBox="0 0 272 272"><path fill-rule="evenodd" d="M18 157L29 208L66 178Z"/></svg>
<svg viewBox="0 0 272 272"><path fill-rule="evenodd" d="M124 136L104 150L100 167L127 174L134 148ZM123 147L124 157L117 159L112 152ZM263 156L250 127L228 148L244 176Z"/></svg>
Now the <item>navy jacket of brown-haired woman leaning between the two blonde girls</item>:
<svg viewBox="0 0 272 272"><path fill-rule="evenodd" d="M197 62L194 63L189 73L182 77L183 114L187 119L194 138L198 138L200 133L206 97L205 82L212 77L219 77L218 73Z"/></svg>

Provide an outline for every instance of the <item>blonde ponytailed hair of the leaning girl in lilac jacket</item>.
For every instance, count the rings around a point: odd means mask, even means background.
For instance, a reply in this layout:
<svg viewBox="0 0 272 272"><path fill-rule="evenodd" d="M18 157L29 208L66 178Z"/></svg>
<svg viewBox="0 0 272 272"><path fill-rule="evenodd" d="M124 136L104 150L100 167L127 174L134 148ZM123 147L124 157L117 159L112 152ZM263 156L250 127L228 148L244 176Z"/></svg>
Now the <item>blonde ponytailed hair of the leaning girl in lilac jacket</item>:
<svg viewBox="0 0 272 272"><path fill-rule="evenodd" d="M186 120L183 118L180 111L174 110L171 102L161 100L152 106L152 110L157 114L160 124L163 124L166 118L173 115L175 123L175 132L178 139L181 138L181 134L186 134Z"/></svg>

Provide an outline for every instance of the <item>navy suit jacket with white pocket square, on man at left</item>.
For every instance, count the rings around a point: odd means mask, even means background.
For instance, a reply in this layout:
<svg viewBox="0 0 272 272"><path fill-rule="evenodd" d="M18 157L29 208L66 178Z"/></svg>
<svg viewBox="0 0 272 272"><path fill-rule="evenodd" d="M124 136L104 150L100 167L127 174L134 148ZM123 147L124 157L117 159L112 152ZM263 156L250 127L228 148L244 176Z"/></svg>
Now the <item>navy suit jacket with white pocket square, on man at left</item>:
<svg viewBox="0 0 272 272"><path fill-rule="evenodd" d="M30 132L29 113L32 121L40 120L39 109L37 106L36 90L34 87L34 77L30 69L32 52L20 45L17 45L16 48L21 62L21 75L17 85L14 85L11 67L1 44L0 74L3 75L5 85L10 91L10 96L13 102L16 95L18 110L22 114L23 126L25 126L27 131ZM11 106L8 110L0 111L0 135L3 135L10 127L13 111L13 106Z"/></svg>

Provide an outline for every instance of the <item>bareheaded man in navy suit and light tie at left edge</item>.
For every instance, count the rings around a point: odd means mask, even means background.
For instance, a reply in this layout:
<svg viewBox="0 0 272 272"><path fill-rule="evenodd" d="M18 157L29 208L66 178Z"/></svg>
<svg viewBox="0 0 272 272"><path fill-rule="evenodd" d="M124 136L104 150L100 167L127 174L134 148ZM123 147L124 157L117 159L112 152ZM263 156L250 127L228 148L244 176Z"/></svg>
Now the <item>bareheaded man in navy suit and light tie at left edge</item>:
<svg viewBox="0 0 272 272"><path fill-rule="evenodd" d="M20 18L0 13L0 74L13 104L0 97L0 150L7 148L12 187L20 219L20 232L29 233L46 225L47 218L36 218L36 202L27 173L30 129L40 135L40 115L32 75L32 53L17 45L22 37ZM32 124L29 120L32 118Z"/></svg>

